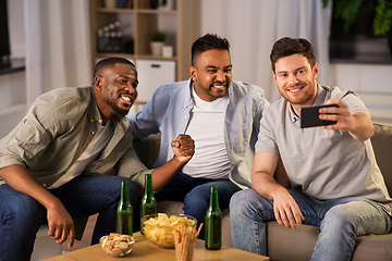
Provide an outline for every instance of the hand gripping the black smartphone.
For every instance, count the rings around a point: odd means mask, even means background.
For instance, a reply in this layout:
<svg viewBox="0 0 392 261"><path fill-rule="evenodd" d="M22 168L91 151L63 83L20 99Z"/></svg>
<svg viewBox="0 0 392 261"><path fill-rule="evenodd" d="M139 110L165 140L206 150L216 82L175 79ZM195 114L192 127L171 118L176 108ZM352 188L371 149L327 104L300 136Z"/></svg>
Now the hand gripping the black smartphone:
<svg viewBox="0 0 392 261"><path fill-rule="evenodd" d="M335 124L322 126L326 129L341 129L351 132L355 128L354 116L348 110L348 105L342 99L329 99L326 104L338 104L338 107L321 108L320 120L336 121Z"/></svg>

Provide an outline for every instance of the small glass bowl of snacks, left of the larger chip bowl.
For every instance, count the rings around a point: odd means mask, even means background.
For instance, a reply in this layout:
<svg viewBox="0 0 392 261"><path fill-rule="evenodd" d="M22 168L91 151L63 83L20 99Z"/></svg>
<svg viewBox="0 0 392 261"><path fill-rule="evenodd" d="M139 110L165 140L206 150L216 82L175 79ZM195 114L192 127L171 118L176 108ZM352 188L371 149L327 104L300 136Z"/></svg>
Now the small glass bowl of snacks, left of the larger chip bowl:
<svg viewBox="0 0 392 261"><path fill-rule="evenodd" d="M135 238L128 235L110 233L99 239L102 249L113 257L123 257L132 251Z"/></svg>

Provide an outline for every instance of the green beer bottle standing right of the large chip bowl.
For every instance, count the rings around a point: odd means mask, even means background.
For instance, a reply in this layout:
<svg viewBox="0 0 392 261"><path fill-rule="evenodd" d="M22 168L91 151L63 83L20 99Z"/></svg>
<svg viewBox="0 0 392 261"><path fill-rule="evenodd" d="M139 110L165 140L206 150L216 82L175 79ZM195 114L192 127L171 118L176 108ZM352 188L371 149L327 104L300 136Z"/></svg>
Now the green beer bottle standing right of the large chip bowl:
<svg viewBox="0 0 392 261"><path fill-rule="evenodd" d="M222 213L219 209L218 188L211 186L210 204L205 216L205 245L209 250L218 250L222 246Z"/></svg>

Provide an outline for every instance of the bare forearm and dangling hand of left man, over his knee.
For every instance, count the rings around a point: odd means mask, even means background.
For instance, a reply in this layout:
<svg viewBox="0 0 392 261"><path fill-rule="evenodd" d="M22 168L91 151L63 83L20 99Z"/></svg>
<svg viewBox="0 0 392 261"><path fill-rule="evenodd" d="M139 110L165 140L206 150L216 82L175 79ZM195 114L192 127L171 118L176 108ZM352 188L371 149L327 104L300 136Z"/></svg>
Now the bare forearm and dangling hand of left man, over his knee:
<svg viewBox="0 0 392 261"><path fill-rule="evenodd" d="M48 235L62 244L70 236L69 248L75 240L75 228L71 215L51 192L39 185L29 171L22 165L9 165L0 170L0 177L13 189L26 194L47 209Z"/></svg>

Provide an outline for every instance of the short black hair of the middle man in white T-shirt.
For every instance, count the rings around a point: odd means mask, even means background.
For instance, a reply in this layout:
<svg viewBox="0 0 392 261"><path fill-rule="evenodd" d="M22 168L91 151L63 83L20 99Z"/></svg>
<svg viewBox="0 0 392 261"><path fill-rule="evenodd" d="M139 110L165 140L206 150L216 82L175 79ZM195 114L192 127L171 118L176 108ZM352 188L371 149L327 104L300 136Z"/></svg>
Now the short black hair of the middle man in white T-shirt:
<svg viewBox="0 0 392 261"><path fill-rule="evenodd" d="M230 52L229 40L226 38L221 38L215 34L206 34L197 38L192 45L192 49L191 49L192 65L194 65L194 60L197 55L212 49L226 50Z"/></svg>

